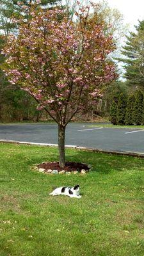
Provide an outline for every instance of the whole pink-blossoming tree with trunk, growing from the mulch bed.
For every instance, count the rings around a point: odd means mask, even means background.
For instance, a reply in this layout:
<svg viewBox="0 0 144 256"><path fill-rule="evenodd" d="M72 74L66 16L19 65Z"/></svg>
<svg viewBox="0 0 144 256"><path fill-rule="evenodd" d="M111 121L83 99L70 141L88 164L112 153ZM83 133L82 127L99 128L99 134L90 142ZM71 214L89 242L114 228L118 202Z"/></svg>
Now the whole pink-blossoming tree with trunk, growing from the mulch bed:
<svg viewBox="0 0 144 256"><path fill-rule="evenodd" d="M104 35L104 24L97 13L89 14L90 6L79 8L77 22L68 19L65 9L44 10L36 3L22 7L29 19L18 20L19 35L8 37L3 70L58 124L63 167L66 125L97 104L104 84L115 79L109 58L113 38Z"/></svg>

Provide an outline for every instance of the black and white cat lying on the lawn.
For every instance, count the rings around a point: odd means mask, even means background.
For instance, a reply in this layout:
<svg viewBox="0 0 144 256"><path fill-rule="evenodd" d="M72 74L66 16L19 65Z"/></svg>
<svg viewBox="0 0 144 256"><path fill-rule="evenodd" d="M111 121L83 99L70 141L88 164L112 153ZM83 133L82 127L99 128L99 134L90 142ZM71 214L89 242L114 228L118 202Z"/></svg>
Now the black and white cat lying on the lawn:
<svg viewBox="0 0 144 256"><path fill-rule="evenodd" d="M70 197L81 198L81 196L79 195L79 184L77 184L74 187L56 188L49 195L52 195L52 196L65 195L65 196L70 196Z"/></svg>

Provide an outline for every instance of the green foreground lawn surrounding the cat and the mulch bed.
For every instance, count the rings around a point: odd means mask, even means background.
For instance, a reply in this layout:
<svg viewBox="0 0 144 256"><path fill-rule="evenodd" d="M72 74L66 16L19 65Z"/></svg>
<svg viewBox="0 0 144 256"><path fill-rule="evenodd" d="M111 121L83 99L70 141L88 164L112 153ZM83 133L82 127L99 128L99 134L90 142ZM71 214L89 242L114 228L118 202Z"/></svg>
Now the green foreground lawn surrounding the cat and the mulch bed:
<svg viewBox="0 0 144 256"><path fill-rule="evenodd" d="M31 170L57 161L57 148L0 144L1 256L143 256L144 159L66 150L92 164L87 175ZM49 196L80 184L81 199Z"/></svg>

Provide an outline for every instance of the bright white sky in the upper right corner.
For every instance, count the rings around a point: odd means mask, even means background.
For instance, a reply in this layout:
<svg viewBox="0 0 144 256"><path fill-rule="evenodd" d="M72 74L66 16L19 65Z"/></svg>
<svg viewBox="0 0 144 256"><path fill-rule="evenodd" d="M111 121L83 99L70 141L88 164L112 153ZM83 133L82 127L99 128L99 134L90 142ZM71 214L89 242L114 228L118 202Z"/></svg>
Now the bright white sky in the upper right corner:
<svg viewBox="0 0 144 256"><path fill-rule="evenodd" d="M108 0L108 3L124 15L124 23L128 23L132 30L138 25L138 20L144 19L144 0Z"/></svg>

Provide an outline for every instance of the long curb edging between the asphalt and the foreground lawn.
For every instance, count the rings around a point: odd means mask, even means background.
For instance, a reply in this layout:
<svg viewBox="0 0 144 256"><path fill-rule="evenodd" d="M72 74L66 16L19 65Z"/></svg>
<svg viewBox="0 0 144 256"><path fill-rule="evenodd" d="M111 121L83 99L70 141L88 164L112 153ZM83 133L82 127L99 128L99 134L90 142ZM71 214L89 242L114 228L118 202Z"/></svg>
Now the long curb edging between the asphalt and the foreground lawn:
<svg viewBox="0 0 144 256"><path fill-rule="evenodd" d="M38 146L45 146L45 147L58 147L58 144L36 143L36 142L16 141L16 140L0 140L0 143L13 143L13 144L19 144L19 145L25 144L25 145L38 145ZM74 148L74 149L78 149L78 150L87 150L87 151L101 152L101 153L106 153L106 154L143 157L144 158L144 153L142 153L142 152L129 152L129 151L120 151L120 150L102 150L100 148L87 148L87 147L80 147L78 145L65 145L65 148Z"/></svg>

